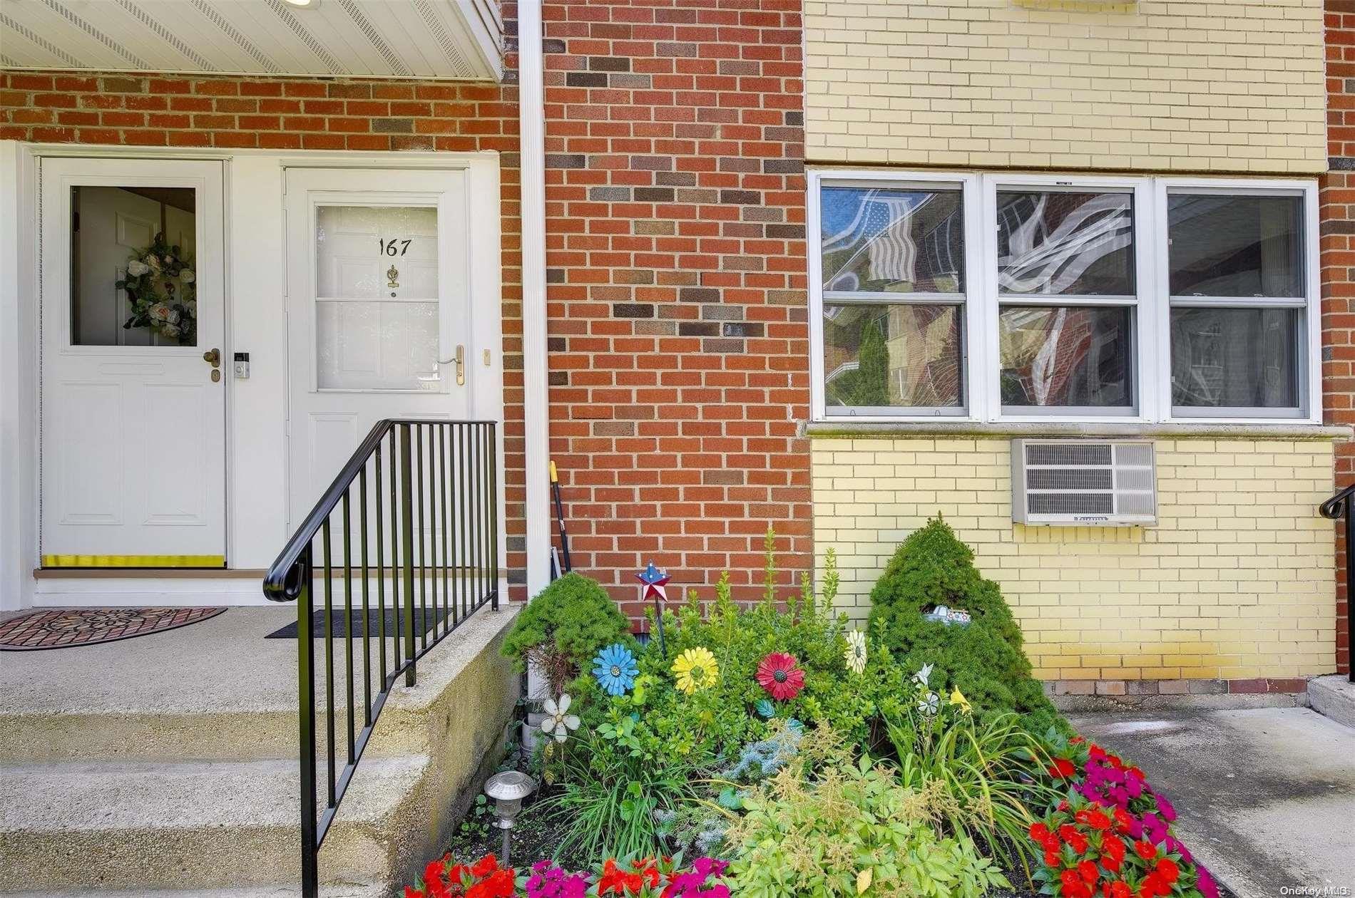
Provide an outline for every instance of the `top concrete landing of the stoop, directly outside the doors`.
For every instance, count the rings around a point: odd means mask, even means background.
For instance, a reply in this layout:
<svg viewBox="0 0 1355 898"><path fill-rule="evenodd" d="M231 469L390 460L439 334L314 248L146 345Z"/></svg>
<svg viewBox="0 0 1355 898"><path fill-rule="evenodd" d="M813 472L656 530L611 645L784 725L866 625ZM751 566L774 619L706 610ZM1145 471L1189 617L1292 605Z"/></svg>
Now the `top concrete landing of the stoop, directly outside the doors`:
<svg viewBox="0 0 1355 898"><path fill-rule="evenodd" d="M295 642L264 638L294 615L290 608L230 608L167 634L7 654L0 665L5 695L0 764L297 757ZM465 668L509 620L511 614L481 611L443 641L436 658L430 654L420 661L419 685L409 689L404 680L396 685L364 757L427 753L442 730L439 717L428 714L440 692L428 687L446 685L443 672L454 676ZM317 712L325 700L322 645L316 641ZM393 654L394 647L388 649ZM347 661L341 639L335 650L335 714L343 731ZM375 672L375 641L370 651ZM360 643L355 662L360 677ZM360 707L360 679L356 692ZM322 733L322 714L316 725Z"/></svg>

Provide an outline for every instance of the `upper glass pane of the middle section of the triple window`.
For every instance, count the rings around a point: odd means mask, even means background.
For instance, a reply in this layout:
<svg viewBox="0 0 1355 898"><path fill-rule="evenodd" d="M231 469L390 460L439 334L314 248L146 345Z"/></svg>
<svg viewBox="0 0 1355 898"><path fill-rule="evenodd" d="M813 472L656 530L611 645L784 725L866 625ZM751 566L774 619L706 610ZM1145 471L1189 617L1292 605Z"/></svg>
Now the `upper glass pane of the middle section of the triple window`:
<svg viewBox="0 0 1355 898"><path fill-rule="evenodd" d="M1018 294L1133 295L1133 195L1000 191L997 286Z"/></svg>

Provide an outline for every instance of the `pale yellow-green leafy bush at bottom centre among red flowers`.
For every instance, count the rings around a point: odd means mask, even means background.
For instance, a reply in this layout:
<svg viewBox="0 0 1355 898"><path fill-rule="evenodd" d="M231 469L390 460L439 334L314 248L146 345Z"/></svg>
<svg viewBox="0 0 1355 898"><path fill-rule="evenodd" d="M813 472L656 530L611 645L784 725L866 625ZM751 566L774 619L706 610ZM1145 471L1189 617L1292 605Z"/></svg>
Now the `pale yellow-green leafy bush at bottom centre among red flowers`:
<svg viewBox="0 0 1355 898"><path fill-rule="evenodd" d="M892 768L862 756L805 772L783 767L743 796L745 813L726 830L733 894L977 898L1009 886L973 841L938 836L935 796Z"/></svg>

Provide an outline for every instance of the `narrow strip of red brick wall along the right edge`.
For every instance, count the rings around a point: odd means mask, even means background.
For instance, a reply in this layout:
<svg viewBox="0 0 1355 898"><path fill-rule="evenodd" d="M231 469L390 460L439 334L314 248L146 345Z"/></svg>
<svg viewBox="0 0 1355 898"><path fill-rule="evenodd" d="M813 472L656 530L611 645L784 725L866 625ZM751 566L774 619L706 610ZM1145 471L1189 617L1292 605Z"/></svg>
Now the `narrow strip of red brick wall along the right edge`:
<svg viewBox="0 0 1355 898"><path fill-rule="evenodd" d="M1327 0L1327 153L1321 184L1322 393L1329 424L1355 424L1355 0ZM1336 485L1355 484L1355 443L1336 446ZM1337 528L1340 531L1340 528ZM1337 535L1336 657L1350 670L1350 592Z"/></svg>

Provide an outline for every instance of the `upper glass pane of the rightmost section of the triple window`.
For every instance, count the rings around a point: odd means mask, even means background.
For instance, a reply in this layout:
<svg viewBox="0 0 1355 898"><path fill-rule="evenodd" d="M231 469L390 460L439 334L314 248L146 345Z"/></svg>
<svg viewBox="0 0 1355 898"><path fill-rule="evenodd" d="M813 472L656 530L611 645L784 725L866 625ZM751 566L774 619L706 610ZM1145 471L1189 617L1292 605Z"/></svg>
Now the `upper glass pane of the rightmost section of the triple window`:
<svg viewBox="0 0 1355 898"><path fill-rule="evenodd" d="M1301 196L1167 198L1175 297L1302 297Z"/></svg>

